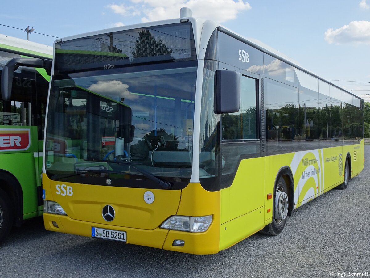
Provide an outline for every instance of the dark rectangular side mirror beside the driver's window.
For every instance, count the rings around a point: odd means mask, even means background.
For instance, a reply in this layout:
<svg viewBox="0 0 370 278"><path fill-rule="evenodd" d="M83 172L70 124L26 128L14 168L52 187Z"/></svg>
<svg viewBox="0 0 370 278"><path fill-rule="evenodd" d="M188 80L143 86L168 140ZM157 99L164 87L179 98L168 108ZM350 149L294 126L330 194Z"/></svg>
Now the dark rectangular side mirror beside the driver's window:
<svg viewBox="0 0 370 278"><path fill-rule="evenodd" d="M240 73L235 70L216 70L215 114L235 113L240 108Z"/></svg>

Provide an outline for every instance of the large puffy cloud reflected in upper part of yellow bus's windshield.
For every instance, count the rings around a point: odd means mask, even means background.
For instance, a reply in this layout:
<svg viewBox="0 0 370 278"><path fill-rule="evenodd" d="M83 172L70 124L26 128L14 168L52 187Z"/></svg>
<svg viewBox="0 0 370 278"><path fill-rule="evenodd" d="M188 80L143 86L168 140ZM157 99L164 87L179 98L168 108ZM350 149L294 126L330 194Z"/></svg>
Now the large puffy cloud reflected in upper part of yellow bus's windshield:
<svg viewBox="0 0 370 278"><path fill-rule="evenodd" d="M137 99L138 96L131 94L128 87L127 84L123 84L118 80L102 80L96 84L92 84L87 89L100 95L109 95L112 98L118 97L118 100L122 97L129 100Z"/></svg>

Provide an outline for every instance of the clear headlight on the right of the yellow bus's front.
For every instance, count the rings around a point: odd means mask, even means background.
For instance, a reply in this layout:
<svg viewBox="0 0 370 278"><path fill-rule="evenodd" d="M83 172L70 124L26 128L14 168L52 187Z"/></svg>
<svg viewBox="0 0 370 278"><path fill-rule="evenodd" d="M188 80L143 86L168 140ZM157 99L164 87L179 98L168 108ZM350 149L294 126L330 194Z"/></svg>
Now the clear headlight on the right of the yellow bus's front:
<svg viewBox="0 0 370 278"><path fill-rule="evenodd" d="M212 215L196 217L173 215L163 222L161 228L199 233L207 231L211 223Z"/></svg>

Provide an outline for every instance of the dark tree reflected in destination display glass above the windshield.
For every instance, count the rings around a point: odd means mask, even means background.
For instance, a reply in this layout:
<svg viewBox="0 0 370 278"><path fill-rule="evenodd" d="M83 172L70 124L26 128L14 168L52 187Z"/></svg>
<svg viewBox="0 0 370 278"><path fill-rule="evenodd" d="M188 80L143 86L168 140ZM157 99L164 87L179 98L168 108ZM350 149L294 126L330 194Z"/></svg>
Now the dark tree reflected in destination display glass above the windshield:
<svg viewBox="0 0 370 278"><path fill-rule="evenodd" d="M167 44L162 39L155 40L149 30L142 30L139 32L139 37L135 43L135 50L132 52L134 56L131 63L145 63L153 60L174 60L172 56L172 49L168 50ZM152 57L152 59L148 59Z"/></svg>

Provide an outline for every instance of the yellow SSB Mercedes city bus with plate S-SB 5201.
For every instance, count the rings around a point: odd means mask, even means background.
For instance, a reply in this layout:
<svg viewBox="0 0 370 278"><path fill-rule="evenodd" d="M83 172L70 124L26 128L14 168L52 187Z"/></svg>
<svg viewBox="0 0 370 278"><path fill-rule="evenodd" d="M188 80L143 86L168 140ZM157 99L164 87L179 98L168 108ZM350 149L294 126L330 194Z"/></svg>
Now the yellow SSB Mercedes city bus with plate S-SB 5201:
<svg viewBox="0 0 370 278"><path fill-rule="evenodd" d="M57 40L46 229L212 254L345 189L363 100L284 57L188 9Z"/></svg>

